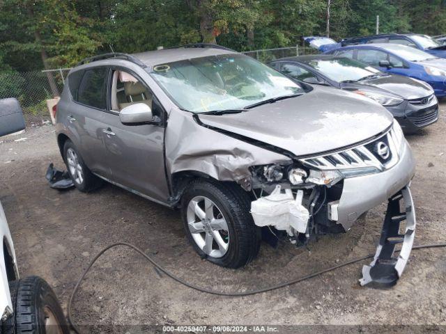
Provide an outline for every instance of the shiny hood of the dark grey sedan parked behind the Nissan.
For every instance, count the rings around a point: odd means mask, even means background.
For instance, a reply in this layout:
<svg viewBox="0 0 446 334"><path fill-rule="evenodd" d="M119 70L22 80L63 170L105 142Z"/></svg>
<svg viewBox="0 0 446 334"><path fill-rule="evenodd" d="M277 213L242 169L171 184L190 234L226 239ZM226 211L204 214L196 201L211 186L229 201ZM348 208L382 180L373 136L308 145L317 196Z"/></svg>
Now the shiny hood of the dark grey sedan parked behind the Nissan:
<svg viewBox="0 0 446 334"><path fill-rule="evenodd" d="M376 93L397 95L405 100L418 99L433 94L431 86L401 75L388 75L378 79L344 84L343 88L370 89L376 91Z"/></svg>

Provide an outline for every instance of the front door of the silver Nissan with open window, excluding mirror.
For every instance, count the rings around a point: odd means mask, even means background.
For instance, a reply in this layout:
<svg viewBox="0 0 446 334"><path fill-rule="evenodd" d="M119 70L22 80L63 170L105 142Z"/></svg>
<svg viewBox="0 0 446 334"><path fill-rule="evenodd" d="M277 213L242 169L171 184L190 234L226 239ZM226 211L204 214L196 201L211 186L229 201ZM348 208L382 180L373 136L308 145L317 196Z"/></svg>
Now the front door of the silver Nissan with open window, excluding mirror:
<svg viewBox="0 0 446 334"><path fill-rule="evenodd" d="M152 200L166 202L169 188L164 169L164 109L150 88L134 72L112 69L110 108L103 113L102 138L111 180ZM123 125L119 112L125 106L148 104L157 124Z"/></svg>

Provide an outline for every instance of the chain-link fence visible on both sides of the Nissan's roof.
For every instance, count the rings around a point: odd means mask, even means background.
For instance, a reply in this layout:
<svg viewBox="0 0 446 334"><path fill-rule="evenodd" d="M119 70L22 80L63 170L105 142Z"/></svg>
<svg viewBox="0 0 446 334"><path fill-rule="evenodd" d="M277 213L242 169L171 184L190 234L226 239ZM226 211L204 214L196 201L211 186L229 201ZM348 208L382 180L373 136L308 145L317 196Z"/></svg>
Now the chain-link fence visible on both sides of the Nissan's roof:
<svg viewBox="0 0 446 334"><path fill-rule="evenodd" d="M243 54L267 62L288 56L318 53L310 47L281 47L245 51ZM33 72L0 71L0 99L16 97L27 113L47 113L45 100L59 96L70 68Z"/></svg>

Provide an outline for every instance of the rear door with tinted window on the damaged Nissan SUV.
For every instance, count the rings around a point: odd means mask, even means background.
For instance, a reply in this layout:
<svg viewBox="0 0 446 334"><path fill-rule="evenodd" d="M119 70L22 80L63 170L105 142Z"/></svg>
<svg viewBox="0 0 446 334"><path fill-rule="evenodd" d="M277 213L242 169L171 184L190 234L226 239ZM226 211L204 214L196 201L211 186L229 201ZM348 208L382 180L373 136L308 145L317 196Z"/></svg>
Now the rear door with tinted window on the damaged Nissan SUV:
<svg viewBox="0 0 446 334"><path fill-rule="evenodd" d="M93 173L109 177L102 138L107 110L108 67L92 67L73 72L68 85L73 103L64 105L62 117L86 165Z"/></svg>

